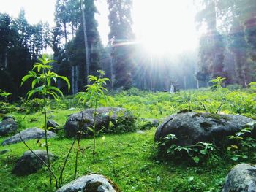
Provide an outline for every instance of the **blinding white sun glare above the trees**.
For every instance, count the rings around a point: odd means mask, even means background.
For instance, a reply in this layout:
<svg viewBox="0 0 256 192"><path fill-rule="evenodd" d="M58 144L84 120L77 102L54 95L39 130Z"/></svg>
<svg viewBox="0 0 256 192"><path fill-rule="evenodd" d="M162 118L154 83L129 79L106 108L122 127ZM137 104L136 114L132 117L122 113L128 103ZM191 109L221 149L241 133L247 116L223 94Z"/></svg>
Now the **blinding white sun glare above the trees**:
<svg viewBox="0 0 256 192"><path fill-rule="evenodd" d="M181 53L197 47L195 8L191 1L134 1L135 35L149 53Z"/></svg>

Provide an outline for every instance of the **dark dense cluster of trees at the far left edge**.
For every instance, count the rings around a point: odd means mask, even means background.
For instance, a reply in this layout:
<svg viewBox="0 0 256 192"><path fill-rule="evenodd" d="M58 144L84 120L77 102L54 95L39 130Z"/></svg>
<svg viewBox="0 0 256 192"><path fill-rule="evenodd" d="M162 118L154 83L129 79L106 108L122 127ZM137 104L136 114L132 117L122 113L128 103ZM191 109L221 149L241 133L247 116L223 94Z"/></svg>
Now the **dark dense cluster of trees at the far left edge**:
<svg viewBox="0 0 256 192"><path fill-rule="evenodd" d="M0 85L12 93L13 98L22 96L26 88L20 88L21 78L37 61L37 56L50 45L48 23L30 25L21 9L18 18L0 13Z"/></svg>

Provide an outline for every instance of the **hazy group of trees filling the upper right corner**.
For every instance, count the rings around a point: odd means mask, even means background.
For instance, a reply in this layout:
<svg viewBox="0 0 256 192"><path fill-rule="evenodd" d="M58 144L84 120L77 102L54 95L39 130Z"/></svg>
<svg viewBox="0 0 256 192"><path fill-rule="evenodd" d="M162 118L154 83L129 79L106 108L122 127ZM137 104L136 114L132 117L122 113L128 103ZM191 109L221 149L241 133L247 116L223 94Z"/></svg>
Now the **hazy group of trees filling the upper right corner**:
<svg viewBox="0 0 256 192"><path fill-rule="evenodd" d="M196 20L207 26L200 38L197 79L221 76L246 87L255 81L256 1L199 0Z"/></svg>

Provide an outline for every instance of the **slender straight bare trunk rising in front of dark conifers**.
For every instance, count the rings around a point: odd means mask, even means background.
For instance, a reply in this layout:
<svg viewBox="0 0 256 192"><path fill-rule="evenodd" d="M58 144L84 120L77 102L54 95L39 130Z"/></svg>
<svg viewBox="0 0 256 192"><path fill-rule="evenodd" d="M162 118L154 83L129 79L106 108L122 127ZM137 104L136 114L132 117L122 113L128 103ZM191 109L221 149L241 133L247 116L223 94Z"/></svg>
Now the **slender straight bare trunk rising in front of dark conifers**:
<svg viewBox="0 0 256 192"><path fill-rule="evenodd" d="M85 64L85 68L86 68L86 72L85 72L85 76L86 76L86 80L87 80L87 85L89 85L89 79L87 78L87 76L90 74L89 71L89 46L88 46L88 40L87 40L87 30L86 30L86 15L84 12L84 6L83 6L83 0L80 0L80 4L81 4L81 10L82 10L82 18L83 18L83 36L84 36L84 47L86 49L86 64Z"/></svg>

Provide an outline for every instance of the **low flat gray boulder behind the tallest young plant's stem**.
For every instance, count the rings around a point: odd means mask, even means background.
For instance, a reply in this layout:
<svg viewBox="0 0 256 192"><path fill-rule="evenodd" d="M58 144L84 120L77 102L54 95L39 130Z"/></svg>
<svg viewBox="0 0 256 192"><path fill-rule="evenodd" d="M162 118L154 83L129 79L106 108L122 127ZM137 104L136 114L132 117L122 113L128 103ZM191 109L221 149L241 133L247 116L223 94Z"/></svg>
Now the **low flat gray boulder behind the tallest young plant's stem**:
<svg viewBox="0 0 256 192"><path fill-rule="evenodd" d="M1 145L10 145L13 143L21 142L20 135L24 141L29 139L44 139L45 138L45 130L42 130L41 128L27 128L23 131L20 131L20 134L15 134L14 136L5 139L4 142L2 142ZM53 138L56 137L56 134L52 131L47 131L47 137Z"/></svg>

